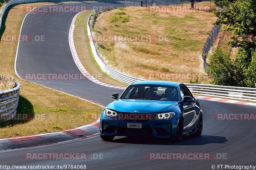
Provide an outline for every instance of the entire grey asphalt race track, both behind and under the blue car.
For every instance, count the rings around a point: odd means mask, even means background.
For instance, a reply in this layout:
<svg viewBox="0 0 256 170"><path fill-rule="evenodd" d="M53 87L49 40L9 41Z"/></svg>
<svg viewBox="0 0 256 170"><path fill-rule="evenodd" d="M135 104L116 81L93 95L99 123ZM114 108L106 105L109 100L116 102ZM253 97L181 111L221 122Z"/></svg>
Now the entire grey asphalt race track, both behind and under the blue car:
<svg viewBox="0 0 256 170"><path fill-rule="evenodd" d="M70 5L70 4L59 4ZM72 5L108 6L110 3L74 3ZM68 31L76 13L28 14L22 35L45 35L45 41L20 42L17 72L23 73L80 73L68 44ZM106 106L113 101L113 92L122 92L90 80L45 80L36 83L79 96ZM47 94L45 94L47 95ZM200 100L204 111L201 137L185 136L181 142L152 138L115 137L104 142L100 136L72 142L19 149L0 153L5 165L86 165L87 169L212 169L212 165L256 165L255 121L220 121L216 113L255 113L255 107ZM103 153L103 159L88 160L27 160L24 153ZM148 160L148 153L212 153L226 159L211 160Z"/></svg>

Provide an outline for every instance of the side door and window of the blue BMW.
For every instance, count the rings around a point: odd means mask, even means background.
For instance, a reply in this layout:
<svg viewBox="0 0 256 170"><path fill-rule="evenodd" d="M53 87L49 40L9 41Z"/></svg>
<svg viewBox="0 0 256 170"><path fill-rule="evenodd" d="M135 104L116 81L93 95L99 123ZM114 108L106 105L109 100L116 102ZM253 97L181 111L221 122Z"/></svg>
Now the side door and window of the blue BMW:
<svg viewBox="0 0 256 170"><path fill-rule="evenodd" d="M184 96L190 96L193 98L192 94L185 85L180 86L180 95L181 101L183 101ZM195 119L195 104L196 101L183 103L184 129L189 129Z"/></svg>

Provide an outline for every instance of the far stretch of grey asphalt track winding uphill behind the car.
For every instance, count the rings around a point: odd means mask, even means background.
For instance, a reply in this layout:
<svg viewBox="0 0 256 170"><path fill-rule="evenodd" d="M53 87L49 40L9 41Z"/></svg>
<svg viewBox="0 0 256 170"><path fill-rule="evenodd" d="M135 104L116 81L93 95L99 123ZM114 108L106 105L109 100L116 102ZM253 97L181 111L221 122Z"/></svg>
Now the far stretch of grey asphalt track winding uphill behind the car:
<svg viewBox="0 0 256 170"><path fill-rule="evenodd" d="M53 4L56 6L56 4ZM119 3L72 3L67 6L121 6ZM77 13L77 12L76 12ZM23 73L81 73L77 68L68 43L68 32L74 12L28 14L23 22L21 35L45 36L45 41L20 41L16 70ZM123 90L97 85L91 80L40 80L38 84L100 103L109 103L114 92ZM103 93L104 92L104 93Z"/></svg>

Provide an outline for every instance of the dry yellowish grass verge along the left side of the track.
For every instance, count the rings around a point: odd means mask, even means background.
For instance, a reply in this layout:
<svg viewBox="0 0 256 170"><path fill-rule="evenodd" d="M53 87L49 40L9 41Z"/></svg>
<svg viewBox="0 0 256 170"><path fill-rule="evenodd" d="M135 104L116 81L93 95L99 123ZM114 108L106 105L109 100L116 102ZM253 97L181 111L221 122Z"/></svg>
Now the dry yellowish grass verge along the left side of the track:
<svg viewBox="0 0 256 170"><path fill-rule="evenodd" d="M49 3L20 4L8 14L3 35L19 35L21 22L26 15L25 5L38 6ZM17 42L0 42L0 75L14 76L14 60ZM30 121L9 121L0 123L0 138L20 137L72 129L95 122L102 108L78 98L32 84L15 77L20 84L18 113L34 115ZM37 118L37 119L36 119ZM53 125L62 129L55 129Z"/></svg>

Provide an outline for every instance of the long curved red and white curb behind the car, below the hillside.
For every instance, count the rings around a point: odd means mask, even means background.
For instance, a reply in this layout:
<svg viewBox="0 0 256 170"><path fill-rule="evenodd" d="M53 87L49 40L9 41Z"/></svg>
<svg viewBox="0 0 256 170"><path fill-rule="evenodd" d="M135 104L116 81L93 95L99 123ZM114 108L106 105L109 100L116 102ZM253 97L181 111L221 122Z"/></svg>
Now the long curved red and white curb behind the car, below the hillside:
<svg viewBox="0 0 256 170"><path fill-rule="evenodd" d="M76 21L76 18L77 18L77 16L78 16L80 13L82 13L82 12L84 12L84 11L81 11L81 12L77 13L77 14L75 15L75 17L73 18L72 24L71 24L70 29L69 29L69 36L68 36L68 37L69 37L69 46L70 46L70 50L71 50L71 53L72 53L72 55L73 55L73 59L74 59L76 65L77 65L77 67L79 68L79 70L81 71L81 73L84 74L84 76L85 76L86 78L88 78L89 80L91 80L91 81L94 82L94 83L97 83L97 84L103 85L103 86L107 86L107 87L111 87L111 88L116 88L116 89L122 89L122 90L124 90L125 87L120 87L120 86L115 86L115 85L108 85L108 84L103 83L103 82L101 82L100 80L94 78L94 77L84 68L83 64L81 63L81 61L80 61L80 59L79 59L79 57L78 57L78 55L77 55L76 48L75 48L75 43L74 43L74 29L75 29L75 21Z"/></svg>

